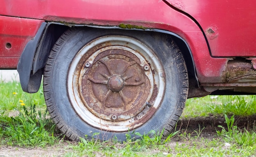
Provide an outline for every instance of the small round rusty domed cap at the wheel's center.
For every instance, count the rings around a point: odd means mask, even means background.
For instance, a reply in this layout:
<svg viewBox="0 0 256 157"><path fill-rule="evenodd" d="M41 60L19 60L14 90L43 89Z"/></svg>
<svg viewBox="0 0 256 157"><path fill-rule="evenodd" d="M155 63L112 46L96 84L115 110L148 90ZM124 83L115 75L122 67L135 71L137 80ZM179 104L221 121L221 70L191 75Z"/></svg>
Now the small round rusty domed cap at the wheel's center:
<svg viewBox="0 0 256 157"><path fill-rule="evenodd" d="M124 80L117 75L111 76L108 80L108 87L110 90L118 92L124 87Z"/></svg>

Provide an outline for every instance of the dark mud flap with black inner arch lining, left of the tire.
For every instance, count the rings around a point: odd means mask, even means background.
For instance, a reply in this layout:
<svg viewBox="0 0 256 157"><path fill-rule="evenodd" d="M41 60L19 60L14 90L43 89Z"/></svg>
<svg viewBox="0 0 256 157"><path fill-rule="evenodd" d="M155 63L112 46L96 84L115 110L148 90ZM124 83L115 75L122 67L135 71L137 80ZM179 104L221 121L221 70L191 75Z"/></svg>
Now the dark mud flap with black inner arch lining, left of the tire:
<svg viewBox="0 0 256 157"><path fill-rule="evenodd" d="M35 93L39 90L49 52L67 28L54 22L43 22L33 40L27 43L17 65L24 92Z"/></svg>

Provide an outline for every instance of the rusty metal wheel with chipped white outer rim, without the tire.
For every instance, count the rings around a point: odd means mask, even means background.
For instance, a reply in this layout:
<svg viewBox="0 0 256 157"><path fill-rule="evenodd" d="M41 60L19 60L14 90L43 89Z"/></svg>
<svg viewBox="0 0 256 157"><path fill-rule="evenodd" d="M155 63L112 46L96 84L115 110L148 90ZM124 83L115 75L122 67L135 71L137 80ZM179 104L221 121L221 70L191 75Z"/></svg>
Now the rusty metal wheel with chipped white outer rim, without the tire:
<svg viewBox="0 0 256 157"><path fill-rule="evenodd" d="M74 110L86 123L103 130L141 126L164 93L162 66L154 57L148 47L130 37L105 36L85 45L68 76Z"/></svg>

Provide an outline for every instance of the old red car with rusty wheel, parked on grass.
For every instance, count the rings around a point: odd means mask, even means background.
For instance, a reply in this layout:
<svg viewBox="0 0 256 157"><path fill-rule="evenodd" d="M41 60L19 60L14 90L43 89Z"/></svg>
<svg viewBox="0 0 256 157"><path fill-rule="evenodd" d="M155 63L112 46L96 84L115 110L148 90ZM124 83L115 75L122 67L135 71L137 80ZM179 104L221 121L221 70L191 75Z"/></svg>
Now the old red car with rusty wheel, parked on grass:
<svg viewBox="0 0 256 157"><path fill-rule="evenodd" d="M72 140L163 130L187 98L256 93L256 1L1 0L0 68Z"/></svg>

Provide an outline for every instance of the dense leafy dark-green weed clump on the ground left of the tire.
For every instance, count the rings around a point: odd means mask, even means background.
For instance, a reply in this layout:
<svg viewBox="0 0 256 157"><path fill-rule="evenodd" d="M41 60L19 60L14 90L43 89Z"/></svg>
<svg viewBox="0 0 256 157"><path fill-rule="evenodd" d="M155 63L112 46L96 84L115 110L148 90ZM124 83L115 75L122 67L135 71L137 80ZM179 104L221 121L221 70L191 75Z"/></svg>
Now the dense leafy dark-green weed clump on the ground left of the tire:
<svg viewBox="0 0 256 157"><path fill-rule="evenodd" d="M58 137L53 135L55 125L50 119L46 119L47 111L42 116L35 108L35 105L30 105L27 110L23 106L23 112L19 112L16 117L1 116L1 140L9 146L53 145L58 140Z"/></svg>

